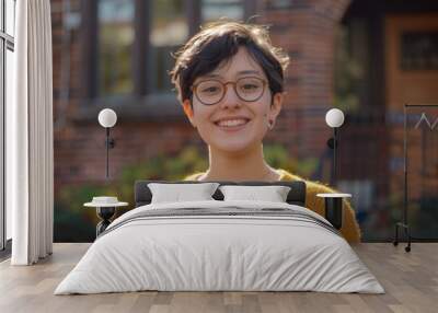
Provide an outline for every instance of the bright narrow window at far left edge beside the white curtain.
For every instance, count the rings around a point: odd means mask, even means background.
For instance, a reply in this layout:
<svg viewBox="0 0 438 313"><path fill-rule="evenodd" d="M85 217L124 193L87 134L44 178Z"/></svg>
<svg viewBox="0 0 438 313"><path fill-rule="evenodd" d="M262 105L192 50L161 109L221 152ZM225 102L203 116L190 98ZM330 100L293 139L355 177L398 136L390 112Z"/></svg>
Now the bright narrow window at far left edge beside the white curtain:
<svg viewBox="0 0 438 313"><path fill-rule="evenodd" d="M11 211L5 207L5 107L12 102L15 1L0 0L0 250L12 237Z"/></svg>

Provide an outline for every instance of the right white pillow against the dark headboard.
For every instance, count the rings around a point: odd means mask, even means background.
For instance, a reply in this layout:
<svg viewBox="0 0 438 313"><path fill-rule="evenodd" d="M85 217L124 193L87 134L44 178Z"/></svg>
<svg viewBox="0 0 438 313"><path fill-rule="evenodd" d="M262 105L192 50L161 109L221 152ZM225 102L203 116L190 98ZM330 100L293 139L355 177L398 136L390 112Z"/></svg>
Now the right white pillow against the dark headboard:
<svg viewBox="0 0 438 313"><path fill-rule="evenodd" d="M257 200L272 202L286 202L290 192L288 186L220 186L223 200Z"/></svg>

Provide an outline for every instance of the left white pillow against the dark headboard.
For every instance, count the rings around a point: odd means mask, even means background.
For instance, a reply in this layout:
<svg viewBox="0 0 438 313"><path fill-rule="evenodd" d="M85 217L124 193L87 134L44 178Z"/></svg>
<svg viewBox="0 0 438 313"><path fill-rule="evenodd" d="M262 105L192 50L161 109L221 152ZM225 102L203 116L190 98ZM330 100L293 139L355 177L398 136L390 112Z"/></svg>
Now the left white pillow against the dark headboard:
<svg viewBox="0 0 438 313"><path fill-rule="evenodd" d="M152 193L151 204L215 200L211 196L218 186L218 183L148 184Z"/></svg>

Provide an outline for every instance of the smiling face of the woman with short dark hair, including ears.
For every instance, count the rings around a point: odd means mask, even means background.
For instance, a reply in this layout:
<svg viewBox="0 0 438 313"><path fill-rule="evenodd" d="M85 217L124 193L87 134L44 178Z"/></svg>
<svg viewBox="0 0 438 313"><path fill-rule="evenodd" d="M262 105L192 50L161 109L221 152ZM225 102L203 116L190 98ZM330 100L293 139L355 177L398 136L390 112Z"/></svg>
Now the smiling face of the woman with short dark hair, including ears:
<svg viewBox="0 0 438 313"><path fill-rule="evenodd" d="M254 102L240 98L233 84L228 83L223 97L216 104L205 105L196 95L193 96L193 111L188 100L183 103L192 125L198 129L199 136L210 148L226 152L244 152L261 144L268 130L269 119L275 121L281 108L283 94L277 93L270 105L272 93L266 76L245 48L240 48L228 62L221 63L212 72L195 80L194 85L200 86L199 82L208 80L226 83L235 82L239 79L245 81L242 78L249 77L255 77L266 82L262 96ZM251 92L253 88L251 84L239 86L242 94L245 90ZM198 88L197 94L201 92L205 94L215 92L215 88L209 89L208 85L201 90Z"/></svg>

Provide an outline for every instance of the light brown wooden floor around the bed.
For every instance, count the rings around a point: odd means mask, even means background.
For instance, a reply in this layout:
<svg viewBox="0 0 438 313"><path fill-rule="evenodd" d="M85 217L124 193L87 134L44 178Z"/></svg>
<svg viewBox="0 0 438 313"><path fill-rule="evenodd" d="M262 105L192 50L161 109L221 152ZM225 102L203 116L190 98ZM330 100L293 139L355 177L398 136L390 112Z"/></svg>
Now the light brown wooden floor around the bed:
<svg viewBox="0 0 438 313"><path fill-rule="evenodd" d="M355 246L385 294L319 292L130 292L54 295L89 244L55 244L35 266L0 263L0 312L438 312L438 243Z"/></svg>

